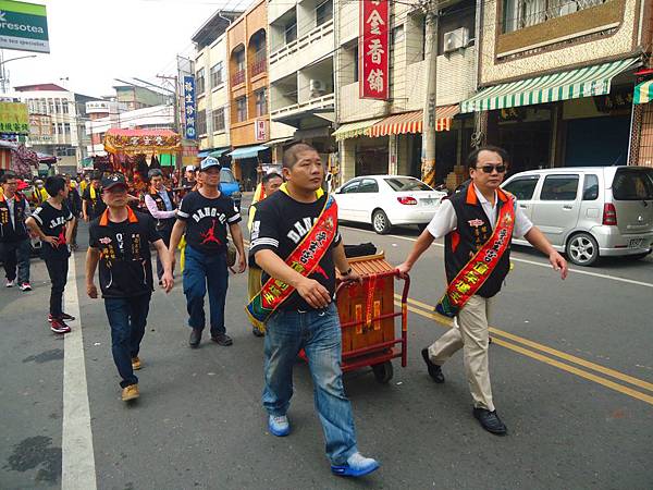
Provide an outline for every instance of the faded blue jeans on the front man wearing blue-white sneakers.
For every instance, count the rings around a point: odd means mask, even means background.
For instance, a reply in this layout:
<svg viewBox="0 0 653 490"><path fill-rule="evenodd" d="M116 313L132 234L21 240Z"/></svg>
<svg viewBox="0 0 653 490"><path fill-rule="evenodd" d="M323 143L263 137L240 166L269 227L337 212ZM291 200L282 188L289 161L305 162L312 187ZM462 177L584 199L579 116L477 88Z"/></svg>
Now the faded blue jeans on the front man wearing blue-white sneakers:
<svg viewBox="0 0 653 490"><path fill-rule="evenodd" d="M299 313L280 310L267 323L263 406L285 415L293 396L293 365L304 348L313 381L316 409L322 422L326 456L345 464L357 452L352 404L341 369L342 332L335 305Z"/></svg>

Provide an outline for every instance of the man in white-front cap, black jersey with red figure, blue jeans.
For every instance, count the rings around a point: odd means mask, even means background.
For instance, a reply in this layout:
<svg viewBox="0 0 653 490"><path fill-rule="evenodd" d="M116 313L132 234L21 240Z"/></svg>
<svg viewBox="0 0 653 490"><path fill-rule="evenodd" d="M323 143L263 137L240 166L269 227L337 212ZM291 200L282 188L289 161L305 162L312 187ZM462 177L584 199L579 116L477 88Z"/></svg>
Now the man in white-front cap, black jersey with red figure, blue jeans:
<svg viewBox="0 0 653 490"><path fill-rule="evenodd" d="M186 233L183 281L188 326L192 329L188 344L193 348L199 346L206 323L204 298L207 290L211 308L211 340L223 346L233 343L224 327L224 303L229 282L227 225L238 250L237 272L244 272L246 268L243 232L238 225L241 213L231 197L220 192L221 168L215 158L207 157L201 161L199 167L201 187L190 192L182 200L170 238L170 261L174 265L174 250L182 234Z"/></svg>

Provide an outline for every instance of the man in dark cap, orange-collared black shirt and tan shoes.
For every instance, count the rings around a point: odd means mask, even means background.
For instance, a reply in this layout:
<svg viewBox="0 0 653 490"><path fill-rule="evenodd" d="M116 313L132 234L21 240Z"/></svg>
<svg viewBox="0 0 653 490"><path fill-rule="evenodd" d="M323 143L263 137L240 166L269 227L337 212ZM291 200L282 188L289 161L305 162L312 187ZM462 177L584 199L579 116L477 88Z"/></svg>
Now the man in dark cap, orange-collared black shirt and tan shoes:
<svg viewBox="0 0 653 490"><path fill-rule="evenodd" d="M149 303L153 290L149 245L152 244L163 264L161 284L165 292L173 285L168 248L148 215L127 206L127 185L122 174L102 181L102 198L108 209L90 223L86 255L86 291L98 296L94 283L100 265L100 289L111 327L111 352L122 378L122 400L137 399L141 367L138 352L145 334Z"/></svg>

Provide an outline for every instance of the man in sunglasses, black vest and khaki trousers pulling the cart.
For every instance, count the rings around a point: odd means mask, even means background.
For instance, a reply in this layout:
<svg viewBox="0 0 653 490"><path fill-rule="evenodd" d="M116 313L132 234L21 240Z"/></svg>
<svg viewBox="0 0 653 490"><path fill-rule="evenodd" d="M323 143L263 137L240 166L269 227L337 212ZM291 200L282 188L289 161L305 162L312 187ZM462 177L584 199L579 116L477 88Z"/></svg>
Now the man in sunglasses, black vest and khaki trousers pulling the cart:
<svg viewBox="0 0 653 490"><path fill-rule="evenodd" d="M433 240L444 236L446 278L449 283L456 278L470 258L492 237L497 216L503 206L510 203L509 196L500 187L507 170L507 152L492 146L481 147L469 155L467 167L471 180L443 200L406 261L398 267L399 273L408 273ZM549 256L549 261L555 270L560 271L563 279L567 277L565 259L518 206L515 206L513 235L528 240L533 247ZM506 426L498 418L492 400L488 367L488 316L493 296L500 292L510 269L510 238L512 236L508 237L508 247L483 285L454 318L454 328L430 347L422 350L429 375L436 383L444 382L442 365L456 351L464 350L465 371L473 399L473 415L485 430L501 436L506 433Z"/></svg>

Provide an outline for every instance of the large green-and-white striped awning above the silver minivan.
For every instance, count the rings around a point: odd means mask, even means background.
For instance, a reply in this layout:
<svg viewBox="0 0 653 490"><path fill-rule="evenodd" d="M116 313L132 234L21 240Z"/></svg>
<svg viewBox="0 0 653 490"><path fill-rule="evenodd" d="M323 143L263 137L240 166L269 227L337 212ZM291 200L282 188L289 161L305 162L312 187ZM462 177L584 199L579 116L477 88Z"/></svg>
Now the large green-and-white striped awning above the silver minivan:
<svg viewBox="0 0 653 490"><path fill-rule="evenodd" d="M637 58L630 58L484 88L460 102L460 112L491 111L609 94L612 79L637 61Z"/></svg>

